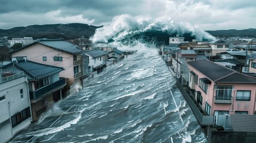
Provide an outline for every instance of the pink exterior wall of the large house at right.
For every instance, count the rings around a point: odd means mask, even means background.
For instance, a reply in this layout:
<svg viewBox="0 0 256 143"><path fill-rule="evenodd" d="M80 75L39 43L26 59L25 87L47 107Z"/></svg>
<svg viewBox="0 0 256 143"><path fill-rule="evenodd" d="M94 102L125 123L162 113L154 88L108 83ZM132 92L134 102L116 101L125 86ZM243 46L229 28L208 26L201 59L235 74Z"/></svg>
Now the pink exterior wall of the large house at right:
<svg viewBox="0 0 256 143"><path fill-rule="evenodd" d="M194 73L198 74L198 85L195 85L195 91L200 91L202 95L202 108L205 109L205 104L211 106L211 115L214 115L214 111L222 110L222 111L229 111L229 114L235 114L235 111L248 111L248 114L254 114L255 108L255 94L256 94L256 85L249 84L249 83L229 83L229 84L220 84L218 83L217 86L220 85L231 85L233 86L232 90L232 104L224 104L224 103L214 103L215 100L215 88L214 82L208 84L208 91L205 93L199 87L199 79L206 77L198 70L194 69L193 67L189 66L189 69L192 70ZM237 91L251 91L251 100L250 101L239 101L236 100L236 93Z"/></svg>

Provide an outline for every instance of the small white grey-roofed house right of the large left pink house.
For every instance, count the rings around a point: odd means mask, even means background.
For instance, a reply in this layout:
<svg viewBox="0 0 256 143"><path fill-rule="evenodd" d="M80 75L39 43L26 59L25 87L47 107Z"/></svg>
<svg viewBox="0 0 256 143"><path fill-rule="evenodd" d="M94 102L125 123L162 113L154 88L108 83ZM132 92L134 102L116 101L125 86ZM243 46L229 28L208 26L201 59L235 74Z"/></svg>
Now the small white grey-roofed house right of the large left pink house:
<svg viewBox="0 0 256 143"><path fill-rule="evenodd" d="M85 51L84 54L89 57L89 72L100 73L101 71L103 71L104 67L106 67L106 60L103 60L103 58L106 57L107 52L100 49L92 49Z"/></svg>

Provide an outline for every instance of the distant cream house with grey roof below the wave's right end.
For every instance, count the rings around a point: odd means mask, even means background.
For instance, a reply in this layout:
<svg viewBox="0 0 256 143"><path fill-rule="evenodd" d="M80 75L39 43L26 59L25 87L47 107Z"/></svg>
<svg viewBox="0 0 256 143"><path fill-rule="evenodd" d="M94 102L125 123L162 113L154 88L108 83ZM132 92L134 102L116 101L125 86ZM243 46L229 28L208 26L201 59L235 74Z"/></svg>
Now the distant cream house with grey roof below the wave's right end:
<svg viewBox="0 0 256 143"><path fill-rule="evenodd" d="M220 52L225 52L227 49L229 49L230 43L227 43L223 40L215 40L209 42L209 45L211 46L212 49L212 54L211 56L215 56Z"/></svg>

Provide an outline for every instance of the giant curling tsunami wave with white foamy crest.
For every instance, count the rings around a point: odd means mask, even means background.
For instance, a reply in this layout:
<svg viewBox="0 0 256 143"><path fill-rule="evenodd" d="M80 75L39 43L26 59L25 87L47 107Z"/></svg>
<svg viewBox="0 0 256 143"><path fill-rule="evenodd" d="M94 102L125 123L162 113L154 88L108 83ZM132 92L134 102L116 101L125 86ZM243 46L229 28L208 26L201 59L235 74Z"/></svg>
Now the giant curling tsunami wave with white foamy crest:
<svg viewBox="0 0 256 143"><path fill-rule="evenodd" d="M150 32L152 32L150 34ZM160 33L159 33L160 32ZM181 35L189 34L194 36L198 41L203 39L208 39L209 41L215 38L209 33L205 32L198 26L192 26L190 23L178 23L171 18L166 19L152 19L149 17L132 17L128 14L118 15L113 18L112 23L104 25L96 29L94 36L91 40L93 42L109 42L113 40L115 42L124 41L127 45L137 44L134 37L142 37L147 39L147 36L156 35ZM152 41L147 41L147 43L154 43L155 39ZM145 42L146 43L146 42Z"/></svg>

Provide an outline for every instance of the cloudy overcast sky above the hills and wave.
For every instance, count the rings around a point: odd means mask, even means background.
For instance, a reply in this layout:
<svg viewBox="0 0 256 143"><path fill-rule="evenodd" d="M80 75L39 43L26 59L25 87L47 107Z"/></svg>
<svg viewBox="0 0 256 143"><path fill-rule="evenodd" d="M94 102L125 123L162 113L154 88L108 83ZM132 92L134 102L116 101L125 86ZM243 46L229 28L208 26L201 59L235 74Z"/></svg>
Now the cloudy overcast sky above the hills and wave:
<svg viewBox="0 0 256 143"><path fill-rule="evenodd" d="M256 28L255 0L1 0L0 29L33 24L111 24L115 16L171 18L203 30Z"/></svg>

